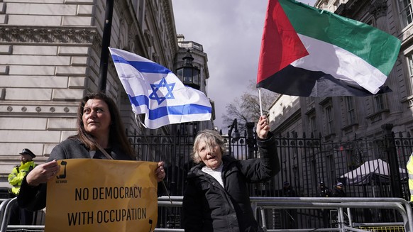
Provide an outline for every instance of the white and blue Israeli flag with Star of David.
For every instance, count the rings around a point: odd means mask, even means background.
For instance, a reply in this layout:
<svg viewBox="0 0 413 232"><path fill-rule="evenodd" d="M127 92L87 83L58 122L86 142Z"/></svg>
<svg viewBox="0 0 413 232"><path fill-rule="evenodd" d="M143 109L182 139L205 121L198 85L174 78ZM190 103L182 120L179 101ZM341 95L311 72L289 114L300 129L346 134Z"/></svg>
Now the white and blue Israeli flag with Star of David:
<svg viewBox="0 0 413 232"><path fill-rule="evenodd" d="M203 92L186 87L166 67L139 55L109 48L135 114L145 114L150 129L168 124L211 120L211 103Z"/></svg>

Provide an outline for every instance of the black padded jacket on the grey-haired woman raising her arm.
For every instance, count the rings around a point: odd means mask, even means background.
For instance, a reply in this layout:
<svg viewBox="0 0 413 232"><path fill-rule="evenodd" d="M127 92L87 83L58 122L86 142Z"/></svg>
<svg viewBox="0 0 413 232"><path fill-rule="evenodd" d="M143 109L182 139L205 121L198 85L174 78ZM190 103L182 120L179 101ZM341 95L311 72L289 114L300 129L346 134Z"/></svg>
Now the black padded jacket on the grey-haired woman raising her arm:
<svg viewBox="0 0 413 232"><path fill-rule="evenodd" d="M263 231L255 221L247 183L264 182L280 171L275 140L258 140L260 159L236 160L224 155L219 182L202 172L204 163L192 167L187 176L182 222L191 231Z"/></svg>

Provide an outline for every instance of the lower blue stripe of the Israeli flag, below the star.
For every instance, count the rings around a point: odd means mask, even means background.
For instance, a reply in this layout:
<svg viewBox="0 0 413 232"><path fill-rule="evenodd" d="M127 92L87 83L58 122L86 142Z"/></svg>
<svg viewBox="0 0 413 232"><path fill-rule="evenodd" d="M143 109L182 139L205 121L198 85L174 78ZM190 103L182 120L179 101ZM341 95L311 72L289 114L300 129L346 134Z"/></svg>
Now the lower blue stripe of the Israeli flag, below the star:
<svg viewBox="0 0 413 232"><path fill-rule="evenodd" d="M148 106L148 96L129 96L131 103L135 106L146 105ZM189 115L189 114L211 114L212 109L209 106L203 106L199 104L186 104L180 106L162 106L157 109L148 109L149 119L155 120L162 118L163 116L171 115Z"/></svg>

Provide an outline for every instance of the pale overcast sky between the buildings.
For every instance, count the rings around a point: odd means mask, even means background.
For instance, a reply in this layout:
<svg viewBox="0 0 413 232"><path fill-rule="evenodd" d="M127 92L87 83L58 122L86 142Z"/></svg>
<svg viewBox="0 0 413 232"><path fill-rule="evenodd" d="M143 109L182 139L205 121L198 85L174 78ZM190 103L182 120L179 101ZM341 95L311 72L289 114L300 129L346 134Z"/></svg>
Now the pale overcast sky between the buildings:
<svg viewBox="0 0 413 232"><path fill-rule="evenodd" d="M301 0L314 5L316 0ZM175 26L185 40L200 43L208 55L206 94L215 101L215 126L226 105L256 82L268 0L172 0Z"/></svg>

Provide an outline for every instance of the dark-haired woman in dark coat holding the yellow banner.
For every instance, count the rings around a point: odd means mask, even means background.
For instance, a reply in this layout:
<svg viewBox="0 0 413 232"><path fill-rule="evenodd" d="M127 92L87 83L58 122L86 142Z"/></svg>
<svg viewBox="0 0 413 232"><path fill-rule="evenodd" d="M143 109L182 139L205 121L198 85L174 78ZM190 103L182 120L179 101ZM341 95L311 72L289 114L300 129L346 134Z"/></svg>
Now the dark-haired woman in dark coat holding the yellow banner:
<svg viewBox="0 0 413 232"><path fill-rule="evenodd" d="M77 134L53 148L48 160L26 175L18 194L18 205L30 210L46 205L46 182L60 170L56 160L62 159L136 160L126 137L121 116L115 102L104 93L84 96L77 109ZM158 162L155 175L160 182L165 178L164 162Z"/></svg>

